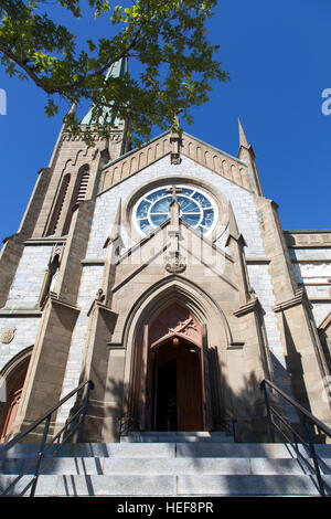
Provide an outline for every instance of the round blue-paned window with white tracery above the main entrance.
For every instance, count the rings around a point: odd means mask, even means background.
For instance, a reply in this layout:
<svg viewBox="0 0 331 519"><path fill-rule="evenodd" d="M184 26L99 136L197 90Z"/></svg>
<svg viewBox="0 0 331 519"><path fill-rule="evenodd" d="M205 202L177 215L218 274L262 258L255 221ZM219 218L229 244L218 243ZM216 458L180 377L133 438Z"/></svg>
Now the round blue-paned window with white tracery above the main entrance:
<svg viewBox="0 0 331 519"><path fill-rule="evenodd" d="M134 221L141 234L146 235L169 219L172 200L171 186L158 188L141 198L134 209ZM216 223L216 205L203 192L186 186L177 186L180 218L202 234L210 233Z"/></svg>

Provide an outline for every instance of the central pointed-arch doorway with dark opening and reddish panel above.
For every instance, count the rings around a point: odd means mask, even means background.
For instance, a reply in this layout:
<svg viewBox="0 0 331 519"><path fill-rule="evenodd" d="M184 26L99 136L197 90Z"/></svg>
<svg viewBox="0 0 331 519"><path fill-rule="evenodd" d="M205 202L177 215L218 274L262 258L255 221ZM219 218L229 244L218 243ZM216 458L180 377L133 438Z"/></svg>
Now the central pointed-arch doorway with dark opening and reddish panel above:
<svg viewBox="0 0 331 519"><path fill-rule="evenodd" d="M142 362L147 370L146 428L204 430L201 325L186 308L172 304L148 327L147 342L147 362Z"/></svg>

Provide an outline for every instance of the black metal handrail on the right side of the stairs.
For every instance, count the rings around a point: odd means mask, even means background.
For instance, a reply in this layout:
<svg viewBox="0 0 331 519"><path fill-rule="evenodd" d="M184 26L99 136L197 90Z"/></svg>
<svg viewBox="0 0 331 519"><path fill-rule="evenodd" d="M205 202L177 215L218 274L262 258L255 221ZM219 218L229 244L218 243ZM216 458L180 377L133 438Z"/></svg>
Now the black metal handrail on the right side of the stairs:
<svg viewBox="0 0 331 519"><path fill-rule="evenodd" d="M310 468L313 468L314 475L317 477L318 481L318 489L319 494L321 497L325 497L325 489L330 490L328 485L324 483L322 476L321 476L321 470L320 470L320 463L321 459L317 455L316 448L314 448L314 443L312 438L312 432L311 432L311 425L316 426L319 432L322 432L325 434L329 438L331 438L331 428L328 427L324 423L322 423L319 419L313 416L307 409L305 409L302 405L300 405L298 402L296 402L293 399L291 399L288 394L286 394L280 388L278 388L274 382L270 380L263 380L260 383L260 389L264 391L265 394L265 402L266 402L266 410L267 410L267 420L269 424L269 435L271 442L275 442L275 434L274 430L277 430L282 437L292 445L292 447L296 449L297 454L299 454L301 457L302 453L298 448L298 439L302 443L302 445L307 448L307 451L310 453L310 457L312 458L313 462L313 467L305 459L306 463L308 463ZM290 422L281 415L271 404L270 404L270 399L268 395L267 389L274 390L278 395L280 395L284 400L286 400L289 404L291 404L297 412L299 412L302 415L302 422L305 425L305 431L307 433L308 441L302 437L302 435L292 427ZM279 422L287 427L290 433L292 434L292 439L284 432L284 430L273 420L273 417L277 417Z"/></svg>

